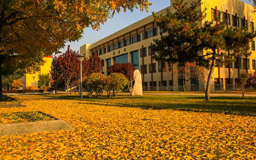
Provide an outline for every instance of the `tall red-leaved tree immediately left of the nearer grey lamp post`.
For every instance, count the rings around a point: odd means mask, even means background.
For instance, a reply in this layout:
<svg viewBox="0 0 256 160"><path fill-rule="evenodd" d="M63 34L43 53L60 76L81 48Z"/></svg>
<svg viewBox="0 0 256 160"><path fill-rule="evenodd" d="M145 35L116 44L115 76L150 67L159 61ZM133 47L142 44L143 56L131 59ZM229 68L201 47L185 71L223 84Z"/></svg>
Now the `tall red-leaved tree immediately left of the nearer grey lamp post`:
<svg viewBox="0 0 256 160"><path fill-rule="evenodd" d="M78 52L72 51L70 45L68 45L68 50L60 55L56 61L57 73L63 79L67 88L70 81L76 77L78 73L77 70L79 70L80 67L80 62L77 57L77 55L79 55Z"/></svg>

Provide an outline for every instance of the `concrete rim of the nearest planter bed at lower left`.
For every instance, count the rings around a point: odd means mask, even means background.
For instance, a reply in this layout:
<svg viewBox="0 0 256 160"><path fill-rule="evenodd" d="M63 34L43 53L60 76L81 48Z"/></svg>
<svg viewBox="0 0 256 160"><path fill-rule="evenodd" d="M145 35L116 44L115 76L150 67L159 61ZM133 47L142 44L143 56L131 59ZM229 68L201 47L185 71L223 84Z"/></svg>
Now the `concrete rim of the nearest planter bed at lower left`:
<svg viewBox="0 0 256 160"><path fill-rule="evenodd" d="M40 112L40 111L38 111ZM15 112L12 114L18 114L20 112ZM44 112L40 112L44 115L50 116L55 120L50 121L38 121L38 122L26 122L26 123L12 123L12 124L0 124L0 137L9 136L9 135L19 135L19 134L27 134L27 133L36 133L43 131L74 131L75 128L69 125L62 119L57 117L48 115ZM0 114L8 114L2 113Z"/></svg>

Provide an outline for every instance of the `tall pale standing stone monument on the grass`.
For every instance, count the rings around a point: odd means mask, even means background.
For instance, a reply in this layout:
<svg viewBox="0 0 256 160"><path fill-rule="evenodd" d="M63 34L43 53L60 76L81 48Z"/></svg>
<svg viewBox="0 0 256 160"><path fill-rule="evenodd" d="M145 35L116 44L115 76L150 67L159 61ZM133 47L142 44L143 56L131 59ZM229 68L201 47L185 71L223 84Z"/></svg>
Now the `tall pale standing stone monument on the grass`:
<svg viewBox="0 0 256 160"><path fill-rule="evenodd" d="M134 85L131 95L142 95L142 81L139 69L133 72Z"/></svg>

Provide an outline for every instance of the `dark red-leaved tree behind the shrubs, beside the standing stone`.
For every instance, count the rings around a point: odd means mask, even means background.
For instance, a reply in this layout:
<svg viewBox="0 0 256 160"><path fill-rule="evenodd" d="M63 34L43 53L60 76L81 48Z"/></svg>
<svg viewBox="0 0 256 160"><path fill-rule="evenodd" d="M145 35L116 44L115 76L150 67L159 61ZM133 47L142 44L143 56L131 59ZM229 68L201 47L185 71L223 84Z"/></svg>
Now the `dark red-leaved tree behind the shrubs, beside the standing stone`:
<svg viewBox="0 0 256 160"><path fill-rule="evenodd" d="M119 62L115 62L108 70L109 74L113 72L118 72L122 73L129 81L128 83L128 88L130 86L130 83L133 80L133 72L136 68L132 63L122 63L120 64Z"/></svg>

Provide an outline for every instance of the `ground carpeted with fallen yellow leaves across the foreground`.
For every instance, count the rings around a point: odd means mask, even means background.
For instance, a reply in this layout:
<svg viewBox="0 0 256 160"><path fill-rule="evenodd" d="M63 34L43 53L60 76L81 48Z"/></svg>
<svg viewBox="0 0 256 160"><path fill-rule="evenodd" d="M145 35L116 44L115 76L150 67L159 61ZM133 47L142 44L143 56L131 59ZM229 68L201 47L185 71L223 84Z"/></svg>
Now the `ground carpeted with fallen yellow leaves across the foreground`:
<svg viewBox="0 0 256 160"><path fill-rule="evenodd" d="M0 138L0 159L255 159L252 116L116 107L113 104L17 96L76 128Z"/></svg>

